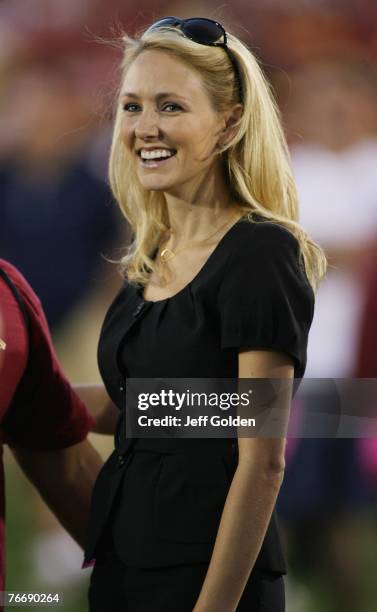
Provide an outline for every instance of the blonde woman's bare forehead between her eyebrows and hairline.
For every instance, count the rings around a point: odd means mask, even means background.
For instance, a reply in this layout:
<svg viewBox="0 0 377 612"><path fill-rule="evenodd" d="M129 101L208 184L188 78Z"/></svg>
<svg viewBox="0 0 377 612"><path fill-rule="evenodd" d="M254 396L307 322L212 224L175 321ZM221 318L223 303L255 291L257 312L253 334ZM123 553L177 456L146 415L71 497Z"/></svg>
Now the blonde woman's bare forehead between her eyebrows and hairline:
<svg viewBox="0 0 377 612"><path fill-rule="evenodd" d="M164 51L143 51L130 65L122 84L122 94L137 95L155 90L176 92L191 98L207 97L202 79L188 64Z"/></svg>

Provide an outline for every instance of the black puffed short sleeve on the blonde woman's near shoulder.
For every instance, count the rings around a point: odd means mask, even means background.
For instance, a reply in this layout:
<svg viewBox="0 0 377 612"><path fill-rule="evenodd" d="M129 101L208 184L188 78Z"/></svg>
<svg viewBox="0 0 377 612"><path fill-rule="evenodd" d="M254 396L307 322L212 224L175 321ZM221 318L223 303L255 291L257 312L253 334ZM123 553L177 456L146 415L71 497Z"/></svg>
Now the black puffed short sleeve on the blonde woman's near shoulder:
<svg viewBox="0 0 377 612"><path fill-rule="evenodd" d="M302 378L314 294L298 241L277 223L247 225L219 289L221 347L286 353L293 359L295 377Z"/></svg>

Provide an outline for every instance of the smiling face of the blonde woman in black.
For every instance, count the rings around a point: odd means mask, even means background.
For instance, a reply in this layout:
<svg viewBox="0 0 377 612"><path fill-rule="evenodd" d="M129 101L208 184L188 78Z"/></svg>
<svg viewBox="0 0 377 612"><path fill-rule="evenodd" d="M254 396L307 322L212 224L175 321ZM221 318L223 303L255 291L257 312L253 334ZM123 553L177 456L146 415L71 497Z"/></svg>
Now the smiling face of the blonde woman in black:
<svg viewBox="0 0 377 612"><path fill-rule="evenodd" d="M120 100L122 140L143 187L186 198L210 179L225 121L198 73L167 53L143 51Z"/></svg>

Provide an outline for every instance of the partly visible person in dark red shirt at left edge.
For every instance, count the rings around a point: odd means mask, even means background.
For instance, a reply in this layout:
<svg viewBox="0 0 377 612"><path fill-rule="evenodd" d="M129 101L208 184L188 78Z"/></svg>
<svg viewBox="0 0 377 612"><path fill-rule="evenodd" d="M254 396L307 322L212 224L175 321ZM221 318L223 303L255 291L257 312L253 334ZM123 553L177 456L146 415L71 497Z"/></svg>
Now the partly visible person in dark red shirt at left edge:
<svg viewBox="0 0 377 612"><path fill-rule="evenodd" d="M82 546L102 465L86 440L95 425L59 366L39 299L0 259L0 591L5 575L3 443Z"/></svg>

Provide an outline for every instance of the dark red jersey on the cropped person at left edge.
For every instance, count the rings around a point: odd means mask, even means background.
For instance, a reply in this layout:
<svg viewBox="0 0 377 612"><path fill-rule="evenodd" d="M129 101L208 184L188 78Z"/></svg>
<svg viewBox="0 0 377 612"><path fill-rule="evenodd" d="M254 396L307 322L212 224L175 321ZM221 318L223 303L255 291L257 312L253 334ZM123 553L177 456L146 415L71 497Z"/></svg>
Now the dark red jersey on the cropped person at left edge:
<svg viewBox="0 0 377 612"><path fill-rule="evenodd" d="M60 449L85 439L94 420L65 378L41 303L23 276L0 259L24 305L0 276L0 590L4 589L2 443ZM1 606L0 606L1 611Z"/></svg>

